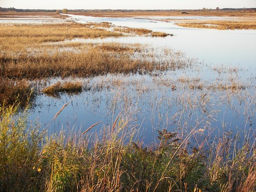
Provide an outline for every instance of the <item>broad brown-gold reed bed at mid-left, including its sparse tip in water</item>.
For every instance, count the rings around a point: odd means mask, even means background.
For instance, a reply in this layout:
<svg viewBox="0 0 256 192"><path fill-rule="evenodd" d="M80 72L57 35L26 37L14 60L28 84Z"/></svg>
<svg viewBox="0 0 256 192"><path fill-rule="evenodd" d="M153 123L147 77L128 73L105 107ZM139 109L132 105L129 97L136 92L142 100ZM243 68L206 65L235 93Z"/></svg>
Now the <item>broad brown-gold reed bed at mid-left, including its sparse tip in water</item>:
<svg viewBox="0 0 256 192"><path fill-rule="evenodd" d="M71 45L72 46L72 45ZM85 44L70 50L54 46L39 47L24 55L2 56L0 76L8 78L45 78L51 76L93 76L107 73L146 73L154 70L176 70L193 66L193 60L169 51L158 53L138 44ZM156 63L159 63L156 65Z"/></svg>

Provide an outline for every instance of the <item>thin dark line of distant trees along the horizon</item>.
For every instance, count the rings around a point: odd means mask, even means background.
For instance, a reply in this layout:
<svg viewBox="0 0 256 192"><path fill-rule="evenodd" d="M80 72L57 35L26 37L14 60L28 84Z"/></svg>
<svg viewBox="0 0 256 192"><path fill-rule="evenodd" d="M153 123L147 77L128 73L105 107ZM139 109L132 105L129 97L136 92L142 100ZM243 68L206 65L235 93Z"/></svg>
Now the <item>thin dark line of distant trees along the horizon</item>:
<svg viewBox="0 0 256 192"><path fill-rule="evenodd" d="M62 10L62 9L59 9ZM169 11L169 12L180 12L180 11L216 11L216 9L169 9L169 10L130 10L130 9L69 9L69 12L145 12L145 11ZM14 7L2 8L1 12L13 11L13 12L57 12L57 9L15 9ZM256 8L223 8L218 9L218 11L256 11Z"/></svg>

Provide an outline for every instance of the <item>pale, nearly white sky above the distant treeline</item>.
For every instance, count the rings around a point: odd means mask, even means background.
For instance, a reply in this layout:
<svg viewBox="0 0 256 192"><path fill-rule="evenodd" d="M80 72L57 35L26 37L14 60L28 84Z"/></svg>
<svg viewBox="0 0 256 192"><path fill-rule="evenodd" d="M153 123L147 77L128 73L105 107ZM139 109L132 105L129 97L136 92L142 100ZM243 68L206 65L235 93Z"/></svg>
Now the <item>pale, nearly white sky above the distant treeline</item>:
<svg viewBox="0 0 256 192"><path fill-rule="evenodd" d="M215 9L256 8L256 0L0 0L16 9Z"/></svg>

